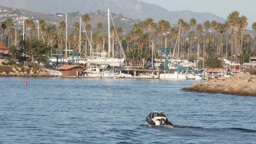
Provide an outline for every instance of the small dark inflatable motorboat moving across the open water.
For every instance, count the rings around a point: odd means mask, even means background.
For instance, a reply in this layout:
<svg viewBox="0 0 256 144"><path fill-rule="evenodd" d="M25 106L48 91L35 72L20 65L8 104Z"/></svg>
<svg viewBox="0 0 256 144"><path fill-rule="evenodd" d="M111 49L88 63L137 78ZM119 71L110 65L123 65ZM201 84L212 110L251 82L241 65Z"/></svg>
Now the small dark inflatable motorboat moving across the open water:
<svg viewBox="0 0 256 144"><path fill-rule="evenodd" d="M172 125L170 121L163 114L163 111L153 111L146 117L146 122L149 125Z"/></svg>

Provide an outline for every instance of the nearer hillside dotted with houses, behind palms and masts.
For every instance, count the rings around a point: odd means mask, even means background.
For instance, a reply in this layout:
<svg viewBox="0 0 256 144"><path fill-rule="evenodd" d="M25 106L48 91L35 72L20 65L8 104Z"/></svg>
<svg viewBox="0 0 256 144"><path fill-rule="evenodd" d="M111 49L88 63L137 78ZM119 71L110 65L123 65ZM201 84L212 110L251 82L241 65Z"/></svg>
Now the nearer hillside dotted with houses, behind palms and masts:
<svg viewBox="0 0 256 144"><path fill-rule="evenodd" d="M23 15L27 18L32 18L34 21L38 19L44 19L48 25L58 25L59 21L65 21L65 15L63 14L61 17L55 14L44 14L39 12L27 11L24 9L14 9L10 7L0 6L0 21L3 21L7 17L12 17L14 20L14 27L22 28L23 27ZM72 27L74 22L79 22L79 17L81 17L81 13L78 13L75 16L68 16L68 26ZM92 25L94 31L97 30L97 23L102 22L103 24L103 33L107 33L108 19L106 12L100 13L90 13L90 24ZM116 27L122 27L124 34L128 33L131 29L134 20L130 18L125 18L125 20L121 20L123 17L119 17L117 14L113 14L113 19Z"/></svg>

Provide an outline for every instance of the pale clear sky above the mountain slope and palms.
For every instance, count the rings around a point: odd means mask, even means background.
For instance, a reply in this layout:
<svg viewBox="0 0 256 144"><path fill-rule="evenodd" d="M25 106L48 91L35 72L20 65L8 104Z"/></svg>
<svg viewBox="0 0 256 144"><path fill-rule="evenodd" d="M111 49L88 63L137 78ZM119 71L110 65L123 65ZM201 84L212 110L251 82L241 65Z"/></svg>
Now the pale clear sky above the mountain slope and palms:
<svg viewBox="0 0 256 144"><path fill-rule="evenodd" d="M169 11L189 10L193 12L210 12L227 19L229 13L238 11L248 19L248 29L256 22L256 0L140 0L157 4Z"/></svg>

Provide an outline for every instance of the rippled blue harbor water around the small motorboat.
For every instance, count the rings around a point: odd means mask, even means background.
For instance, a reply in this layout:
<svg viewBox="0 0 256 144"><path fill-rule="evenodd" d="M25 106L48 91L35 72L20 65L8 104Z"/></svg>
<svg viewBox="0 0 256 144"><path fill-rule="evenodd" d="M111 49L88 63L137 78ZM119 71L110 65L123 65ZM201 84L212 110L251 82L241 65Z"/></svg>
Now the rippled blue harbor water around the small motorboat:
<svg viewBox="0 0 256 144"><path fill-rule="evenodd" d="M1 77L0 143L256 143L256 97L180 90L194 82Z"/></svg>

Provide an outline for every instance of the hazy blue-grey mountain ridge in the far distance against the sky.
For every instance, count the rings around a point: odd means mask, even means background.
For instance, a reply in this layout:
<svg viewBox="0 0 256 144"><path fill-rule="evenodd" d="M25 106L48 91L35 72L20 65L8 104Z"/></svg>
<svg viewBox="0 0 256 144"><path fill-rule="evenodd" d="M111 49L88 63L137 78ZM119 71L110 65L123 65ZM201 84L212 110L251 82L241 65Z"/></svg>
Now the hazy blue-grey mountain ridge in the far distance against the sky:
<svg viewBox="0 0 256 144"><path fill-rule="evenodd" d="M158 5L148 4L138 0L1 0L0 5L41 13L68 13L75 11L87 13L96 12L97 10L107 11L107 9L110 8L111 12L123 13L123 15L132 19L143 20L151 17L155 21L165 19L169 20L171 23L177 23L180 18L185 21L195 18L199 23L203 23L206 20L224 21L223 18L207 12L170 12Z"/></svg>

